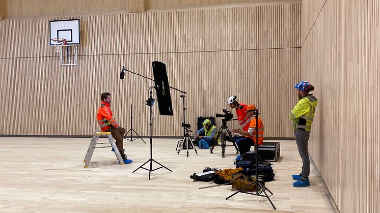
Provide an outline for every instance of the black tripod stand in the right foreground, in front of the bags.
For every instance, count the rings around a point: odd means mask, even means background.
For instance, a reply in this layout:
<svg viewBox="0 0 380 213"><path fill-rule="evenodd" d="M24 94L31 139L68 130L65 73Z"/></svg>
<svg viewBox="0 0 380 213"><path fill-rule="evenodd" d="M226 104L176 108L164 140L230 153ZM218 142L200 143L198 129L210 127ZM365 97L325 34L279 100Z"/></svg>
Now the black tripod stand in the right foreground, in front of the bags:
<svg viewBox="0 0 380 213"><path fill-rule="evenodd" d="M254 110L255 112L255 118L256 118L256 127L258 127L258 116L259 116L259 111L258 109L255 109ZM255 143L255 150L256 150L256 180L253 181L251 184L249 184L248 186L240 189L239 191L233 193L232 195L228 196L226 198L226 200L234 195L236 195L237 193L241 192L241 193L246 193L246 194L250 194L250 195L256 195L256 196L262 196L262 197L266 197L268 198L270 204L272 204L273 208L276 210L276 207L275 205L273 204L272 200L270 200L268 194L266 194L265 191L268 191L270 194L273 195L272 192L270 192L268 190L268 188L266 188L263 184L261 184L261 182L259 181L259 152L258 152L258 139L259 139L259 135L258 135L258 131L256 130L256 143ZM253 184L256 184L256 193L250 193L250 192L243 192L246 188L250 187L251 185ZM259 192L259 188L261 189L261 191ZM265 195L262 195L262 193L264 193Z"/></svg>

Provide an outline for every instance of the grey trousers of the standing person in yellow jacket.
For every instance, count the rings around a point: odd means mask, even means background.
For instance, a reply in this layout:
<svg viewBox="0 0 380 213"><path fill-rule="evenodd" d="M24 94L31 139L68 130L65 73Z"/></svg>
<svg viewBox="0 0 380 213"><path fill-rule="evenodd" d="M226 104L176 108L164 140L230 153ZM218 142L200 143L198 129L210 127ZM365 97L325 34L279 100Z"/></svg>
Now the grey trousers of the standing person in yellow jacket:
<svg viewBox="0 0 380 213"><path fill-rule="evenodd" d="M308 151L308 141L310 137L310 131L306 130L294 130L295 143L298 147L298 153L300 153L302 159L302 172L301 176L304 179L309 179L310 175L310 159Z"/></svg>

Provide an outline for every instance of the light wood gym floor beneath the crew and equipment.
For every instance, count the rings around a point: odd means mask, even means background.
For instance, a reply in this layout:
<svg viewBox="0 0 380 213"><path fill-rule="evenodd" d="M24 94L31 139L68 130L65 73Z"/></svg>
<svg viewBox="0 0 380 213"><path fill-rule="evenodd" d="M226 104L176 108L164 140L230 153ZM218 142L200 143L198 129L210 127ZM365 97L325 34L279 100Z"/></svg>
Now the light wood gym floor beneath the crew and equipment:
<svg viewBox="0 0 380 213"><path fill-rule="evenodd" d="M265 197L238 193L230 186L209 189L209 182L189 178L206 166L234 168L233 147L190 150L179 155L177 139L153 139L153 159L164 168L152 172L132 171L149 159L149 139L125 140L132 164L119 165L110 148L95 150L90 167L84 168L91 138L0 138L0 211L3 212L335 212L322 179L311 166L307 188L293 188L292 174L301 170L294 141L281 141L281 157L274 162L275 180L266 186L274 195ZM106 138L100 141L106 142ZM153 165L157 167L156 164ZM149 166L146 166L149 168Z"/></svg>

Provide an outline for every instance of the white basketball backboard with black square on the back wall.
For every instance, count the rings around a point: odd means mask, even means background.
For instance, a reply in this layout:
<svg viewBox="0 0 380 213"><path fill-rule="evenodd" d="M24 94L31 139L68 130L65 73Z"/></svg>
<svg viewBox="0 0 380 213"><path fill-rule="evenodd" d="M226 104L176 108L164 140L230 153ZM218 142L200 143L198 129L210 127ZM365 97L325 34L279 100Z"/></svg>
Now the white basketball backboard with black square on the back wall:
<svg viewBox="0 0 380 213"><path fill-rule="evenodd" d="M49 21L51 39L66 39L67 45L80 44L79 19Z"/></svg>

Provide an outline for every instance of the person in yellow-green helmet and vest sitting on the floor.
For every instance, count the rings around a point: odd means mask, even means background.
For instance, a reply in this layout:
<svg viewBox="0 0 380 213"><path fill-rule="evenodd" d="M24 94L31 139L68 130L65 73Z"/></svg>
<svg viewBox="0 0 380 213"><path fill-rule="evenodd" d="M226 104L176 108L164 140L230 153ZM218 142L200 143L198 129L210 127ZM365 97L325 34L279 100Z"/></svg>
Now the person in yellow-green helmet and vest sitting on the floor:
<svg viewBox="0 0 380 213"><path fill-rule="evenodd" d="M204 136L202 136L204 135ZM214 144L216 138L216 127L211 124L210 119L203 121L203 127L197 131L195 139L198 141L199 148L210 148Z"/></svg>

